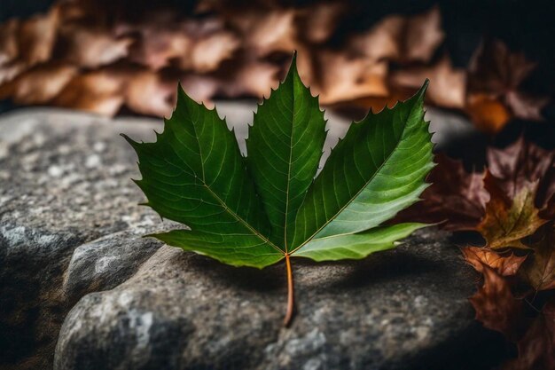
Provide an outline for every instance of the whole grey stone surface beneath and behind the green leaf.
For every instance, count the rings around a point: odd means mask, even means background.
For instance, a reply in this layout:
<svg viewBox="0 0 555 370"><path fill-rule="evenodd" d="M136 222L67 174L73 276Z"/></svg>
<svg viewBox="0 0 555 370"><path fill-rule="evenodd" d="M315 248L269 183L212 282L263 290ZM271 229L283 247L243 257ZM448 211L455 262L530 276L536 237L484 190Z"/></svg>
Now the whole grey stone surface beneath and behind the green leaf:
<svg viewBox="0 0 555 370"><path fill-rule="evenodd" d="M252 105L219 107L245 137ZM326 149L348 128L328 116ZM137 207L136 156L118 136L152 140L152 129L161 121L0 117L0 369L51 368L81 298L58 368L395 368L467 348L455 344L475 334L473 279L445 235L363 262L296 264L291 329L283 266L235 269L140 238L176 227Z"/></svg>

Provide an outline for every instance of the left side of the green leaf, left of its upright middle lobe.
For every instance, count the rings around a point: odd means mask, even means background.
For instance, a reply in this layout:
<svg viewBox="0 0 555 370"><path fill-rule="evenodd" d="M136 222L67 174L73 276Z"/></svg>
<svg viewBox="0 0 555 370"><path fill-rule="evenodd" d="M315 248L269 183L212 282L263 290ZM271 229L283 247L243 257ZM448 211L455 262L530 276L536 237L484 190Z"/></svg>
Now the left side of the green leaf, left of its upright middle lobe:
<svg viewBox="0 0 555 370"><path fill-rule="evenodd" d="M268 240L270 224L235 135L215 110L179 88L176 110L155 143L125 138L137 151L146 205L193 231L152 236L227 264L263 267L283 258Z"/></svg>

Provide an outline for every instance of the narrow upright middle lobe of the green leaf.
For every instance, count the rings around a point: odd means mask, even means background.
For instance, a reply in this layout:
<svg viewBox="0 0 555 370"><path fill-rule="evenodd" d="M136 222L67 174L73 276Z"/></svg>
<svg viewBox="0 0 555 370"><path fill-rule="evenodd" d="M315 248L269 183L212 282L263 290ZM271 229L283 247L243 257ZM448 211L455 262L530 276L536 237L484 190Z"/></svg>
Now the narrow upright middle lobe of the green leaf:
<svg viewBox="0 0 555 370"><path fill-rule="evenodd" d="M270 218L270 240L287 250L297 209L314 179L325 140L324 112L301 82L295 58L277 91L258 106L247 164Z"/></svg>

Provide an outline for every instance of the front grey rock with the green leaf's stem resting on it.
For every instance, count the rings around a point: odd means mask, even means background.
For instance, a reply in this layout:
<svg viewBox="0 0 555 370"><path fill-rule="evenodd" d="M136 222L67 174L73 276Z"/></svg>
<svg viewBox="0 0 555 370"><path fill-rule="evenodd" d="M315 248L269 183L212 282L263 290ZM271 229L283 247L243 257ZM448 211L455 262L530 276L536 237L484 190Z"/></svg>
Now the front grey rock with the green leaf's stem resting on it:
<svg viewBox="0 0 555 370"><path fill-rule="evenodd" d="M359 262L295 260L290 328L283 264L238 269L160 248L131 279L75 305L54 368L456 368L480 335L466 299L473 272L447 237L419 232Z"/></svg>

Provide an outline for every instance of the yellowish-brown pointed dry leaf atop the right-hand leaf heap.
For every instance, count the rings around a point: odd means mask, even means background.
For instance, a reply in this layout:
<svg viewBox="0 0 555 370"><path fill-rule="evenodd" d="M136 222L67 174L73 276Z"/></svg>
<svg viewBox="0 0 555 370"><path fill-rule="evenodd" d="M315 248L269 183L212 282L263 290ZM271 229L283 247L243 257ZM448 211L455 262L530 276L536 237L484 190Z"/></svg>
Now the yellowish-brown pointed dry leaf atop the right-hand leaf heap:
<svg viewBox="0 0 555 370"><path fill-rule="evenodd" d="M528 248L522 239L532 235L545 224L535 208L537 182L523 186L518 193L510 197L499 185L500 181L489 171L484 177L484 186L489 193L485 216L476 230L487 242L487 247Z"/></svg>

